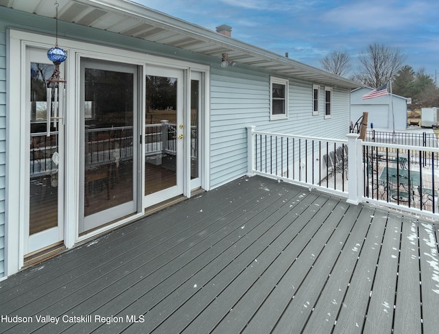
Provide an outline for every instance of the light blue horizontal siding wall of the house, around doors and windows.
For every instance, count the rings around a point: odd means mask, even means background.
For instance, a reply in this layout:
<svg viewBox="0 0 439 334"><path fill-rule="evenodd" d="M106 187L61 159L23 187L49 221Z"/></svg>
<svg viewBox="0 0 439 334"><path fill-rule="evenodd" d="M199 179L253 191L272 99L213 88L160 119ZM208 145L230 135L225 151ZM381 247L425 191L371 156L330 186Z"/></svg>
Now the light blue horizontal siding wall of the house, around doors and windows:
<svg viewBox="0 0 439 334"><path fill-rule="evenodd" d="M7 14L5 14L7 12ZM7 32L8 27L34 33L53 35L53 20L14 10L0 11L0 278L5 275L5 198L7 184L6 147L8 139L6 86L7 82ZM294 77L289 80L289 117L270 121L270 77L279 73L264 71L237 64L222 68L219 58L200 55L165 45L127 38L119 34L102 32L97 29L60 22L62 38L72 38L145 52L156 56L208 65L211 69L209 96L209 163L210 188L219 187L230 180L244 176L247 172L246 126L256 126L257 130L327 136L344 139L348 133L350 91L333 87L332 117L324 118L324 85L320 84L320 115L313 115L312 88L318 82L305 82ZM99 48L97 48L98 51ZM145 51L146 50L146 51ZM9 134L12 138L12 134Z"/></svg>

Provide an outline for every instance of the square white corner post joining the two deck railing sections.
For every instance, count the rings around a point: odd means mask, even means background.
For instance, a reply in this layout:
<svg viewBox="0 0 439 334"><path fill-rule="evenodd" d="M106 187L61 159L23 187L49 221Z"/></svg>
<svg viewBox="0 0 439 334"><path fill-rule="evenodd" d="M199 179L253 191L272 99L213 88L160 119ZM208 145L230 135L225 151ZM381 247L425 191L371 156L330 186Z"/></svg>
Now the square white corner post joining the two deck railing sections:
<svg viewBox="0 0 439 334"><path fill-rule="evenodd" d="M359 134L347 134L348 138L348 199L346 202L359 204L362 189L361 140Z"/></svg>

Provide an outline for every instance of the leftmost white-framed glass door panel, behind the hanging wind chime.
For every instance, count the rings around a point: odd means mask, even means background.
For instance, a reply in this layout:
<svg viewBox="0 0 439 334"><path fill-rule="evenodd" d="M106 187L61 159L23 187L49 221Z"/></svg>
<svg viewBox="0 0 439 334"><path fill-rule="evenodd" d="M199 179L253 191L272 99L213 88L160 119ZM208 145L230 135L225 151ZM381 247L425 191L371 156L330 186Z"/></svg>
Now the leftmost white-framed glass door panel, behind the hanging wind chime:
<svg viewBox="0 0 439 334"><path fill-rule="evenodd" d="M25 254L51 246L63 239L64 127L58 120L47 121L47 87L55 66L43 49L27 49L27 134L29 183L28 240ZM63 66L60 67L63 72ZM64 90L59 92L64 94ZM58 94L58 91L57 91ZM54 102L51 110L56 108ZM51 115L49 115L50 117Z"/></svg>

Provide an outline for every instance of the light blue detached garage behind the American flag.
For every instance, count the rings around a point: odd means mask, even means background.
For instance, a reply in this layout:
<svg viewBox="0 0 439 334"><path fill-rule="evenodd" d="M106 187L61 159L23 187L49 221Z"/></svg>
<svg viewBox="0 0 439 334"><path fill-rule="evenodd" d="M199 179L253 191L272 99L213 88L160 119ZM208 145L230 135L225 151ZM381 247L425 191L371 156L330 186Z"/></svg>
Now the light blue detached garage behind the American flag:
<svg viewBox="0 0 439 334"><path fill-rule="evenodd" d="M374 99L361 99L373 88L356 88L351 92L351 121L355 122L368 112L368 129L401 131L407 129L407 98L399 95L385 95ZM393 112L392 112L393 109Z"/></svg>

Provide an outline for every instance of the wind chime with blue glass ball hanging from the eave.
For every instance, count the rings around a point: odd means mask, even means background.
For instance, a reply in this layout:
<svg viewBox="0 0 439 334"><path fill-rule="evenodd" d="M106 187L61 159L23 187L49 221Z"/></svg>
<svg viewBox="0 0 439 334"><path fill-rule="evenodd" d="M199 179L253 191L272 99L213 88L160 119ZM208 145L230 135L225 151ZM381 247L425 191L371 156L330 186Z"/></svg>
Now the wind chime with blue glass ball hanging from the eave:
<svg viewBox="0 0 439 334"><path fill-rule="evenodd" d="M64 62L67 58L66 52L58 47L58 1L55 2L56 8L56 43L54 47L51 47L47 51L47 58L54 63L55 69L49 80L47 80L47 136L51 136L50 126L51 121L54 122L54 128L57 130L58 121L62 121L64 125L64 83L66 80L60 77L60 64ZM56 136L56 141L58 142L58 136ZM56 143L58 147L58 143ZM58 166L60 163L60 154L58 150L52 154L52 161ZM58 173L54 172L51 175L51 186L58 186Z"/></svg>

